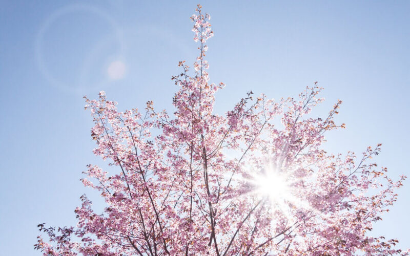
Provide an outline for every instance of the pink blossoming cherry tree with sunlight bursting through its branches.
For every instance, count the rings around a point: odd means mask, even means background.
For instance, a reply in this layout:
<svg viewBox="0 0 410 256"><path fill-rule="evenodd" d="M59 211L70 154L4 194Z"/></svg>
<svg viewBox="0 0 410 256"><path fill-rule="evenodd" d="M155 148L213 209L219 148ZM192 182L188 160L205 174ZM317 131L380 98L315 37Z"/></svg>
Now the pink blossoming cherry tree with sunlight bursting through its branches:
<svg viewBox="0 0 410 256"><path fill-rule="evenodd" d="M102 213L84 195L76 227L45 227L35 249L44 255L389 255L408 254L397 240L372 237L373 223L396 201L398 181L371 162L381 144L356 157L326 153L327 131L341 101L325 118L315 83L299 98L279 101L253 92L226 115L213 113L215 93L205 60L213 36L198 5L193 75L185 61L172 77L179 87L173 115L117 111L104 92L85 97L94 154L118 170L88 165L85 186L106 202ZM281 121L281 125L276 122ZM155 136L154 136L155 134Z"/></svg>

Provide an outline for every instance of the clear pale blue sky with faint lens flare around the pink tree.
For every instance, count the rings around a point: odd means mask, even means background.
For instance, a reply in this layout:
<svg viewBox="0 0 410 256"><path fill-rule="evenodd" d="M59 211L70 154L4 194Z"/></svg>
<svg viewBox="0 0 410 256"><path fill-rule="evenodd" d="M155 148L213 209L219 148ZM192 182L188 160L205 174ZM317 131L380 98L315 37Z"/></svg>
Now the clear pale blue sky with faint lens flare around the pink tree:
<svg viewBox="0 0 410 256"><path fill-rule="evenodd" d="M215 36L210 77L227 87L216 112L245 96L295 97L319 82L324 115L343 100L327 135L333 153L383 143L376 158L409 174L410 2L203 1ZM36 225L75 224L79 179L93 156L83 95L105 90L120 110L170 108L177 63L196 57L196 2L0 1L0 254L38 255ZM110 171L110 169L108 169ZM376 234L410 245L410 182ZM96 208L103 207L96 203Z"/></svg>

